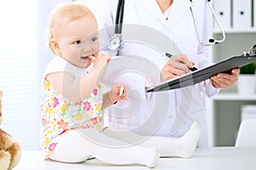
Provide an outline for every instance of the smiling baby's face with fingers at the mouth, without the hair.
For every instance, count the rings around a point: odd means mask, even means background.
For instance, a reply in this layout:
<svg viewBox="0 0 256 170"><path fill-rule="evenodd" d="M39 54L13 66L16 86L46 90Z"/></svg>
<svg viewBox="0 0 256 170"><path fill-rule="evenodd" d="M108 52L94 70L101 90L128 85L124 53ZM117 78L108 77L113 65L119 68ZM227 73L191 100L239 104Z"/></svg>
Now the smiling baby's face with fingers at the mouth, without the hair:
<svg viewBox="0 0 256 170"><path fill-rule="evenodd" d="M99 37L96 20L86 16L63 23L58 36L61 57L73 65L85 68L91 64L90 56L99 52Z"/></svg>

